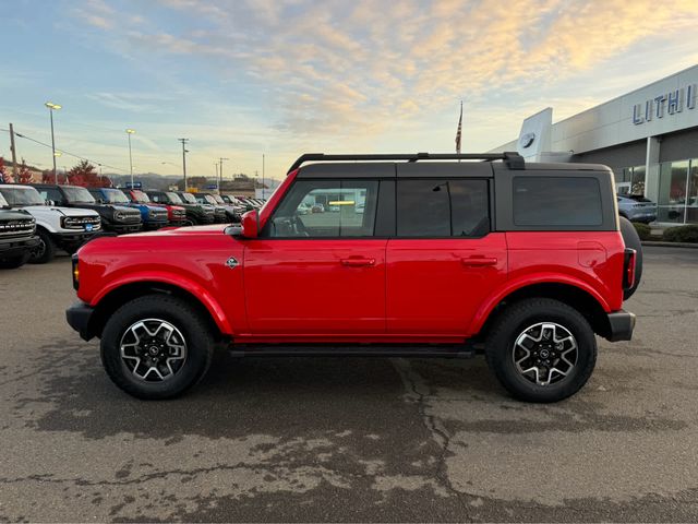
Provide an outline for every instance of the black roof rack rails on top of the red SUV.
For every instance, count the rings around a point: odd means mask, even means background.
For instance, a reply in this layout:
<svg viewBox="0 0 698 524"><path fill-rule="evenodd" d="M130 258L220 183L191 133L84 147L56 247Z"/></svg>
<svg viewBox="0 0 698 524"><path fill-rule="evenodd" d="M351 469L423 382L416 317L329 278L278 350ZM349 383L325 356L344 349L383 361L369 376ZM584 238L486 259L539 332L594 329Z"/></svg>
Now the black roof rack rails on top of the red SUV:
<svg viewBox="0 0 698 524"><path fill-rule="evenodd" d="M326 155L325 153L305 153L298 157L288 172L294 171L306 162L351 162L351 160L504 160L509 169L525 169L524 157L517 152L504 153L401 153L375 155Z"/></svg>

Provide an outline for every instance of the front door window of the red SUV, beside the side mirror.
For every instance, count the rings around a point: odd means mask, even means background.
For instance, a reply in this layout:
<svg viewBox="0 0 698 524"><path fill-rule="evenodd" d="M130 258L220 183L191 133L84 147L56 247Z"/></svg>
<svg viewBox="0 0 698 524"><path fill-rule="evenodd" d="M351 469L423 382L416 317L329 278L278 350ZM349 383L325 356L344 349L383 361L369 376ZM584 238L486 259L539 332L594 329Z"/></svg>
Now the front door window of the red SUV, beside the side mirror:
<svg viewBox="0 0 698 524"><path fill-rule="evenodd" d="M370 237L377 180L300 180L279 204L268 237Z"/></svg>

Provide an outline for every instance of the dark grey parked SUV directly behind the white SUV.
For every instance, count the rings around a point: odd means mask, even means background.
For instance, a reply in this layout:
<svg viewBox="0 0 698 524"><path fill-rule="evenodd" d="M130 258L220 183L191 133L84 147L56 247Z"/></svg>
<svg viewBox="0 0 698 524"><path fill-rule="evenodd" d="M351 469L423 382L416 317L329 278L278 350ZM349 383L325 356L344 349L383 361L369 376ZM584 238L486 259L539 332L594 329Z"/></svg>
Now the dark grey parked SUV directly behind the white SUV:
<svg viewBox="0 0 698 524"><path fill-rule="evenodd" d="M51 205L93 210L101 218L101 228L117 234L137 233L143 228L141 212L124 205L98 204L85 188L35 183L41 198Z"/></svg>

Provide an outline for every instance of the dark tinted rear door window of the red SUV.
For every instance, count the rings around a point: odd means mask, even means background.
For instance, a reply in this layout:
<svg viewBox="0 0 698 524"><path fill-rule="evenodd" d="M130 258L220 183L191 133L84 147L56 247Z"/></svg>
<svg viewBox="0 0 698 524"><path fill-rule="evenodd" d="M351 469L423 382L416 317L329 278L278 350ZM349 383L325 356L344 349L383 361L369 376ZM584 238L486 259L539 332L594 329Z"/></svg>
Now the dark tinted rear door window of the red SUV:
<svg viewBox="0 0 698 524"><path fill-rule="evenodd" d="M486 180L398 180L398 237L482 237L489 231Z"/></svg>

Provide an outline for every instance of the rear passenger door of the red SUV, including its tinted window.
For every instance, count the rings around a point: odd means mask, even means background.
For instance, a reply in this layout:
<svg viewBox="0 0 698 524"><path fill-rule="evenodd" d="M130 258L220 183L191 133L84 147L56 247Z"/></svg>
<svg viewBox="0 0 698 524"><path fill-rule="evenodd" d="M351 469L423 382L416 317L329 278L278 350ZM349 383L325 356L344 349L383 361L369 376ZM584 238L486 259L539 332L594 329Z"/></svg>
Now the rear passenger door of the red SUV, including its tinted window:
<svg viewBox="0 0 698 524"><path fill-rule="evenodd" d="M397 169L397 230L386 251L388 333L464 335L491 289L506 279L506 238L491 233L492 168L421 163Z"/></svg>

